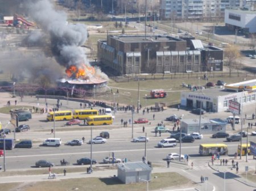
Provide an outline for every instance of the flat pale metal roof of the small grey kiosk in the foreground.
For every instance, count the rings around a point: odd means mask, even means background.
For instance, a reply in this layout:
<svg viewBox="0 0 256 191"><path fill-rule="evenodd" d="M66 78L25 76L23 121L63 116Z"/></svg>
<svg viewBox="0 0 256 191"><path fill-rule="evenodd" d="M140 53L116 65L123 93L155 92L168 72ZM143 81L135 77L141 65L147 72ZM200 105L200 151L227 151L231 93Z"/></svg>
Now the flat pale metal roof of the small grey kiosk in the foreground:
<svg viewBox="0 0 256 191"><path fill-rule="evenodd" d="M151 171L151 167L143 162L131 162L131 163L122 163L117 164L119 169L122 169L126 172L134 172L134 171Z"/></svg>

